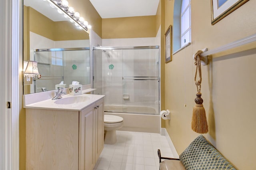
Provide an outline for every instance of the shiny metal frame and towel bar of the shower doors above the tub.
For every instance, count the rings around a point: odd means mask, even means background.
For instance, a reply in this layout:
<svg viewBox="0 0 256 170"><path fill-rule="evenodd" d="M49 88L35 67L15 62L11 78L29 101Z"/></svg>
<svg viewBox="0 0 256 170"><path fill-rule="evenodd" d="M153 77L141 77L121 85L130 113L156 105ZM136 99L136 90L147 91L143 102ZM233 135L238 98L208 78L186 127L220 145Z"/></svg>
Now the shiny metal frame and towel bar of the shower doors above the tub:
<svg viewBox="0 0 256 170"><path fill-rule="evenodd" d="M133 47L133 46L127 46L127 47L122 47L122 46L117 46L117 47L102 47L102 46L98 46L98 47L93 47L92 48L92 67L94 67L94 50L124 50L124 49L158 49L158 77L157 79L155 79L156 77L123 77L122 76L122 80L124 79L131 79L131 80L158 80L158 113L156 114L150 114L150 113L146 113L146 115L160 115L160 111L161 111L161 81L160 81L160 70L161 70L161 65L160 65L160 48L159 45L152 45L152 46L137 46L137 47ZM92 69L92 88L94 88L94 69ZM148 79L146 79L148 78ZM114 111L108 111L108 113L116 113ZM118 112L118 113L130 113L130 112ZM140 114L140 115L145 115L145 113L132 113L132 114Z"/></svg>

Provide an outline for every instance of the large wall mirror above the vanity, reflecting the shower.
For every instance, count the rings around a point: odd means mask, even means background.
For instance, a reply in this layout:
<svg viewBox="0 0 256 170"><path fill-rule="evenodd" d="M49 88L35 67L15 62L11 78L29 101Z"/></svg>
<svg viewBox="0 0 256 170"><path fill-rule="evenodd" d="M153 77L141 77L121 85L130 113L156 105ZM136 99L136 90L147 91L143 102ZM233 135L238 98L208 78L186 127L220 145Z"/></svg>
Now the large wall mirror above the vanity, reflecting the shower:
<svg viewBox="0 0 256 170"><path fill-rule="evenodd" d="M62 81L90 84L89 34L44 0L24 0L23 61L38 62L40 78L24 78L24 94L54 90ZM63 85L61 86L63 87Z"/></svg>

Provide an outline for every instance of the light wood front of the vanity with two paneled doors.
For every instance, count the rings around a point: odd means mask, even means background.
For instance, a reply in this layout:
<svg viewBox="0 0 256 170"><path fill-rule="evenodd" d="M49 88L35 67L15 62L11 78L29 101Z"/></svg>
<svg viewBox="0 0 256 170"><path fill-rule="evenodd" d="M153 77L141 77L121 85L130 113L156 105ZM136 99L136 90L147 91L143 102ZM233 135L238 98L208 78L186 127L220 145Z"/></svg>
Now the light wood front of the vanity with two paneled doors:
<svg viewBox="0 0 256 170"><path fill-rule="evenodd" d="M98 101L79 115L79 170L92 170L104 146L104 103Z"/></svg>

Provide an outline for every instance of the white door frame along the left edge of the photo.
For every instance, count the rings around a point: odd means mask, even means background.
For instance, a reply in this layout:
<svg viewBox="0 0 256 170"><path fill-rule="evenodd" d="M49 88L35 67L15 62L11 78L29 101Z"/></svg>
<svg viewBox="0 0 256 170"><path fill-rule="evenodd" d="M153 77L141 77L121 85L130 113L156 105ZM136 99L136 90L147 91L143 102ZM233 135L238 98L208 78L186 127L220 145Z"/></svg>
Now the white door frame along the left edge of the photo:
<svg viewBox="0 0 256 170"><path fill-rule="evenodd" d="M0 170L19 169L19 85L23 28L20 9L22 0L0 2L0 20L3 21L0 26ZM12 103L10 109L6 105L8 101Z"/></svg>

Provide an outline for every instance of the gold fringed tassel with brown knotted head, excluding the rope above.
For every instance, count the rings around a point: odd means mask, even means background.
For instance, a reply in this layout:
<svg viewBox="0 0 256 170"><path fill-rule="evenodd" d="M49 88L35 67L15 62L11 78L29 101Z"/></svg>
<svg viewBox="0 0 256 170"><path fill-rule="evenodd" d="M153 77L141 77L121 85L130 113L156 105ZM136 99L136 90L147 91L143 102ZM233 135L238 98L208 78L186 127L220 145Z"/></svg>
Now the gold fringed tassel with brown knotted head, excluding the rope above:
<svg viewBox="0 0 256 170"><path fill-rule="evenodd" d="M201 93L196 94L196 105L193 109L191 128L195 132L202 134L208 132L208 124L201 95Z"/></svg>

